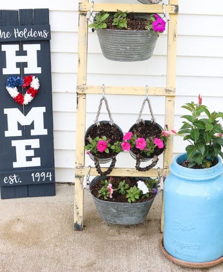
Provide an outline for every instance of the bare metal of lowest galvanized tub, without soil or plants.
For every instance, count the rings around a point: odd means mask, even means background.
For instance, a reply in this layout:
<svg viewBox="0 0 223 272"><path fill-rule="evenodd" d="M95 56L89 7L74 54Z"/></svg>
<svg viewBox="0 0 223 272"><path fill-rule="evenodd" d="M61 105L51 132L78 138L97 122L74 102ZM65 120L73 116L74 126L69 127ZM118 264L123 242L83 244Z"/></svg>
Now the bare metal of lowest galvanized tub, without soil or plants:
<svg viewBox="0 0 223 272"><path fill-rule="evenodd" d="M105 177L94 178L90 183L90 188L94 182L104 178ZM93 196L93 199L99 216L104 221L118 225L135 225L146 220L155 196L153 199L142 203L109 202L98 199L95 196Z"/></svg>

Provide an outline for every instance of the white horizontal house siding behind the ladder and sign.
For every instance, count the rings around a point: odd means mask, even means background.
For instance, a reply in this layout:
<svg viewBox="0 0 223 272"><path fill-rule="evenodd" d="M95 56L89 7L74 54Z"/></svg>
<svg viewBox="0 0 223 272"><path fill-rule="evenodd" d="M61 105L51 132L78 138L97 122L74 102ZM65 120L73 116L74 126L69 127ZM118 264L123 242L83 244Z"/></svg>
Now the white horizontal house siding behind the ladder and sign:
<svg viewBox="0 0 223 272"><path fill-rule="evenodd" d="M95 0L95 2L139 3L137 0ZM166 2L167 1L163 1ZM139 3L140 4L140 3ZM53 84L55 166L57 182L73 182L75 166L78 0L2 1L1 9L49 8ZM167 31L161 34L151 59L142 62L114 62L104 58L97 34L89 29L89 85L166 86ZM181 126L180 106L198 94L210 110L223 111L223 1L179 0L174 129ZM101 95L87 95L86 127L96 117ZM135 123L142 96L107 95L113 120L123 132ZM151 97L157 122L164 126L164 97ZM143 117L149 119L145 107ZM108 120L103 106L100 120ZM186 143L174 138L174 156ZM87 157L86 165L93 165ZM134 167L129 154L119 154L117 167ZM159 166L162 165L162 158Z"/></svg>

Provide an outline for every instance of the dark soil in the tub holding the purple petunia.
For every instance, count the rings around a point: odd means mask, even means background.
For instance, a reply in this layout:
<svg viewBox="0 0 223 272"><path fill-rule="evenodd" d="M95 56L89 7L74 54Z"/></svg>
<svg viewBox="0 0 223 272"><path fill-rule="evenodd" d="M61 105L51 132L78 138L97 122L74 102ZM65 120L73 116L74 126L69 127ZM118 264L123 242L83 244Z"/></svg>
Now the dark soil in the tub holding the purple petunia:
<svg viewBox="0 0 223 272"><path fill-rule="evenodd" d="M134 15L132 13L127 14L127 28L122 28L121 30L147 30L146 25L147 25L147 19L145 18L134 18ZM107 23L107 29L117 29L116 26L112 26L113 19L108 18Z"/></svg>

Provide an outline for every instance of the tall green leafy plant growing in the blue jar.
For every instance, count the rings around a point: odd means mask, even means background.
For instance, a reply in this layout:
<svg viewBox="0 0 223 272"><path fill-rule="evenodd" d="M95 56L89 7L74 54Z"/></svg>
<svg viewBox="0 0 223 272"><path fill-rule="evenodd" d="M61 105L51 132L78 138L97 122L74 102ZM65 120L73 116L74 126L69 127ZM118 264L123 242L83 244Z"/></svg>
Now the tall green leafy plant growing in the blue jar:
<svg viewBox="0 0 223 272"><path fill-rule="evenodd" d="M186 103L182 108L187 109L190 115L183 115L181 118L183 126L178 131L178 135L190 142L186 147L188 167L195 165L201 168L213 166L217 155L223 158L223 128L218 118L223 119L223 112L212 112L207 106L202 105L202 98L198 96L198 103ZM206 118L200 117L205 114Z"/></svg>

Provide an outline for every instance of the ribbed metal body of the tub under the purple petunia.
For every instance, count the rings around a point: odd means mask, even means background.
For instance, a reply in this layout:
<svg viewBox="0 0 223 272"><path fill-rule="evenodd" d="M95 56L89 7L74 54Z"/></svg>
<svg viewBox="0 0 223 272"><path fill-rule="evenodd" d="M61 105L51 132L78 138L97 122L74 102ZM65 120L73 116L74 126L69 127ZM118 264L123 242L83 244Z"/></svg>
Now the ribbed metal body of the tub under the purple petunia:
<svg viewBox="0 0 223 272"><path fill-rule="evenodd" d="M97 29L103 55L116 61L142 61L153 55L158 36L152 30Z"/></svg>

